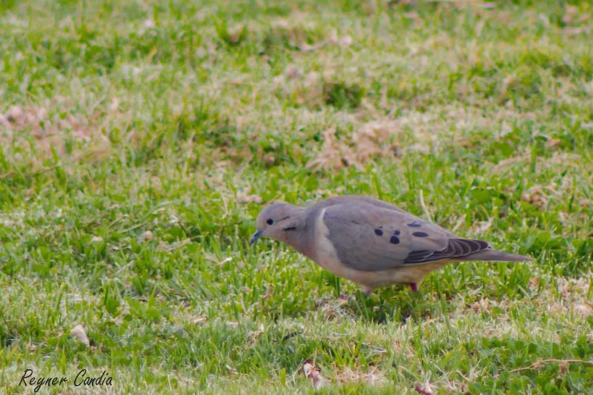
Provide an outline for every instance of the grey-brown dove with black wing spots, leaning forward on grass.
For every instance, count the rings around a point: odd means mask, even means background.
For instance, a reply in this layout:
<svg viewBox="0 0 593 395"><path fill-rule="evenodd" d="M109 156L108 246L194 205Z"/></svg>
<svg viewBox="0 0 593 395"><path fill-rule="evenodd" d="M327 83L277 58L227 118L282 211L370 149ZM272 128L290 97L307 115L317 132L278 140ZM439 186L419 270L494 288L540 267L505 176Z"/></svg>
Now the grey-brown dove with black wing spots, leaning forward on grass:
<svg viewBox="0 0 593 395"><path fill-rule="evenodd" d="M466 239L396 205L362 195L330 197L307 207L276 201L257 216L260 237L286 243L366 296L376 288L409 284L413 292L430 272L452 262L533 261Z"/></svg>

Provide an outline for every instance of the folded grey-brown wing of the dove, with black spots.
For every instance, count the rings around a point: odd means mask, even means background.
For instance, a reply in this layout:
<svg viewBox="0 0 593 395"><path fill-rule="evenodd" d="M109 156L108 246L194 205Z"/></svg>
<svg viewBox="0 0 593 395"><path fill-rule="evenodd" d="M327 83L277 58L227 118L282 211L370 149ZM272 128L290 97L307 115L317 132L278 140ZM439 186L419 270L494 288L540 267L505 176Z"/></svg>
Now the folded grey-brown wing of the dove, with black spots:
<svg viewBox="0 0 593 395"><path fill-rule="evenodd" d="M449 237L447 230L406 211L364 202L330 205L323 215L340 262L357 270L454 259L488 248L482 240Z"/></svg>

